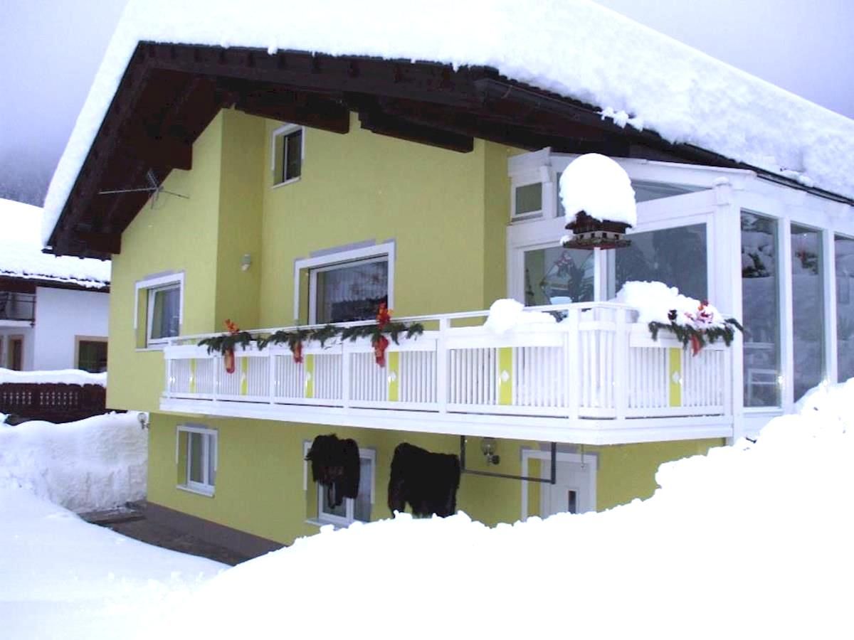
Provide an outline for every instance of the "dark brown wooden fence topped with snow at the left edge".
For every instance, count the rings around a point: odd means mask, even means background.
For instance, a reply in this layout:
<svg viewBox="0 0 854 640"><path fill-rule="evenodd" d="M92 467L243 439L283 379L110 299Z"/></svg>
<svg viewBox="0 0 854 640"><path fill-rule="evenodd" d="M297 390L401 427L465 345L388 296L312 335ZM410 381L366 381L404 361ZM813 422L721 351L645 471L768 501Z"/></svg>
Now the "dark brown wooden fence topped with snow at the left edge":
<svg viewBox="0 0 854 640"><path fill-rule="evenodd" d="M107 390L100 385L0 384L0 413L31 420L73 422L99 416L106 406Z"/></svg>

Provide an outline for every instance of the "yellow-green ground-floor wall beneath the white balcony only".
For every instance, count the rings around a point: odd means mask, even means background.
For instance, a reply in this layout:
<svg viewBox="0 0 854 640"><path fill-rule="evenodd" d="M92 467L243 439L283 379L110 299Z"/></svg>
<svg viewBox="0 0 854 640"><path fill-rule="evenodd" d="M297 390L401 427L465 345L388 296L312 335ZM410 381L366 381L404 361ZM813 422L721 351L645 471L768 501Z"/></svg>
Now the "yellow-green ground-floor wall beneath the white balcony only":
<svg viewBox="0 0 854 640"><path fill-rule="evenodd" d="M219 461L213 497L178 488L186 473L181 460L175 462L177 426L182 422L202 424L219 433ZM376 451L376 480L371 520L390 516L387 492L391 459L403 441L430 451L458 453L459 438L428 433L400 433L358 428L323 428L286 422L237 419L179 418L154 415L149 439L150 502L290 544L295 538L317 532L308 520L317 515L317 493L308 470L308 489L303 489L303 443L320 433L334 431L340 438L353 438L361 448ZM669 460L705 453L717 440L679 443L651 443L593 447L586 453L596 457L597 508L610 509L635 497L654 492L655 470ZM501 463L490 471L521 474L523 447L535 443L499 440ZM479 439L470 439L468 468L487 470L479 451ZM529 474L540 474L537 463ZM540 514L540 485L528 487L529 515ZM522 515L519 480L463 474L457 507L473 519L488 525L518 521Z"/></svg>

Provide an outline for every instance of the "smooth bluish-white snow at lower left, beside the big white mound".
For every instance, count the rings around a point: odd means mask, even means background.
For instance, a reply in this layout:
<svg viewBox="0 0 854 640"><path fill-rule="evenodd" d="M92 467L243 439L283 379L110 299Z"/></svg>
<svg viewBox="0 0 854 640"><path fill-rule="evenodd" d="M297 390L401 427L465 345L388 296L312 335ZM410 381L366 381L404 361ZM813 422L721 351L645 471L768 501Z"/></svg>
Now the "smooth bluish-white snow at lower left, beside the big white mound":
<svg viewBox="0 0 854 640"><path fill-rule="evenodd" d="M90 525L0 486L0 637L137 637L225 568Z"/></svg>

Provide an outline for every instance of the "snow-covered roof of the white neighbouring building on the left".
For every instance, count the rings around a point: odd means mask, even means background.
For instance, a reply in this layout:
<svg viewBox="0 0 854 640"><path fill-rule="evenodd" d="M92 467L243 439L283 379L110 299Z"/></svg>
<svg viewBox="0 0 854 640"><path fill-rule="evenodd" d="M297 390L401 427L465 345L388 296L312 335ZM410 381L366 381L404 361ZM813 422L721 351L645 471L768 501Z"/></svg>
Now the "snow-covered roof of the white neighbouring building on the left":
<svg viewBox="0 0 854 640"><path fill-rule="evenodd" d="M86 288L109 285L109 260L42 253L41 228L40 207L0 199L0 276Z"/></svg>

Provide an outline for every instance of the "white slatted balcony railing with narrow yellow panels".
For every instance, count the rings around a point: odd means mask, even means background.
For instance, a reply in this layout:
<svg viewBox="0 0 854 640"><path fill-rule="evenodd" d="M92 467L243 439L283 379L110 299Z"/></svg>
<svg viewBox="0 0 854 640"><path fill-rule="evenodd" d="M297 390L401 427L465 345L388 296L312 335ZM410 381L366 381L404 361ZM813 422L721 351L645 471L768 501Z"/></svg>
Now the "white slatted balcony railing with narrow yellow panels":
<svg viewBox="0 0 854 640"><path fill-rule="evenodd" d="M565 319L496 334L488 311L404 318L424 334L392 342L385 367L360 338L307 342L301 364L287 346L238 347L229 374L196 346L207 335L181 336L164 349L161 410L588 445L732 435L728 347L652 340L624 305L535 310Z"/></svg>

